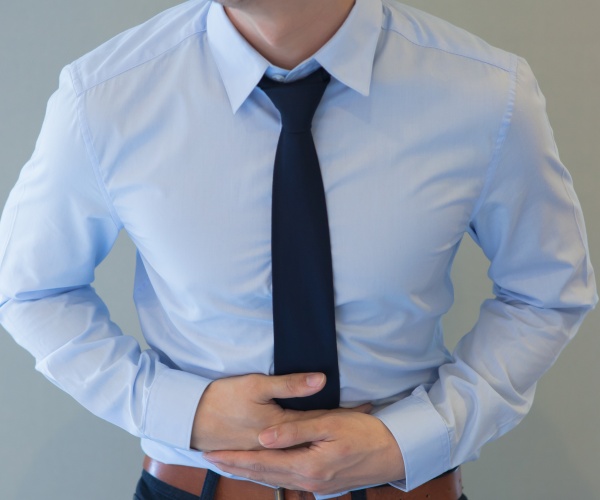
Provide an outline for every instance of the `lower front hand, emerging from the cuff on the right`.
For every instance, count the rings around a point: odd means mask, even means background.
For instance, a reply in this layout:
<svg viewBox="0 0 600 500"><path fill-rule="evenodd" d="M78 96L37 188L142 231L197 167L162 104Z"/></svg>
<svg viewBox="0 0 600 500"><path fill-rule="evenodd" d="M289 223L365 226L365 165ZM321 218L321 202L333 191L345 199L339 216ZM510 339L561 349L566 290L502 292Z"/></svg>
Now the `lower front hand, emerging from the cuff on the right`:
<svg viewBox="0 0 600 500"><path fill-rule="evenodd" d="M318 494L405 477L391 432L379 419L360 412L325 412L278 424L260 433L259 441L269 449L217 451L204 457L236 476Z"/></svg>

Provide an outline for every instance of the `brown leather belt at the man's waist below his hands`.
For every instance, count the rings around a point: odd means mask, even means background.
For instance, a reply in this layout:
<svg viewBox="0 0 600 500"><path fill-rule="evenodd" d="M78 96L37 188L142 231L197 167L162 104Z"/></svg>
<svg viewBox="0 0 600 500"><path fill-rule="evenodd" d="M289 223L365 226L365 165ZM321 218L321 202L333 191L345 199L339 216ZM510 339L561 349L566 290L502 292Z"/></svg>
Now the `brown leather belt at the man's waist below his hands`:
<svg viewBox="0 0 600 500"><path fill-rule="evenodd" d="M144 470L156 479L177 489L200 496L206 469L184 465L168 465L146 456ZM368 500L458 500L462 495L460 469L442 474L431 481L409 491L401 491L389 485L368 488ZM251 481L240 481L221 477L217 486L215 500L313 500L312 493L304 491L274 489ZM350 493L337 497L350 500Z"/></svg>

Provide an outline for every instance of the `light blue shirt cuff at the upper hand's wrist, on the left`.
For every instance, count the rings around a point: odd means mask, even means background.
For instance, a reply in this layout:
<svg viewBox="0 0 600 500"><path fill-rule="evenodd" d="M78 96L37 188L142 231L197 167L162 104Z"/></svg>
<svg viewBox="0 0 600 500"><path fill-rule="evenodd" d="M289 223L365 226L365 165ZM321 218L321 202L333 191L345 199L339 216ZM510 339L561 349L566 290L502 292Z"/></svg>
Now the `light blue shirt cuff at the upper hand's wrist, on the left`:
<svg viewBox="0 0 600 500"><path fill-rule="evenodd" d="M144 437L189 450L198 402L211 382L191 373L164 370L148 397Z"/></svg>

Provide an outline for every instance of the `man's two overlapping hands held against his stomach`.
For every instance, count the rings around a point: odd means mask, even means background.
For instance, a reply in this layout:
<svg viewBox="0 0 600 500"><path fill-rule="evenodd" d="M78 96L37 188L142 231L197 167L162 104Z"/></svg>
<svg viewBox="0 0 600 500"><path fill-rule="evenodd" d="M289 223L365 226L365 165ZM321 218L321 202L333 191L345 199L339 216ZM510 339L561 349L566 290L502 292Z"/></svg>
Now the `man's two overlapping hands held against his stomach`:
<svg viewBox="0 0 600 500"><path fill-rule="evenodd" d="M400 449L370 405L295 411L274 401L324 385L320 373L216 380L198 404L191 446L224 472L322 495L403 479Z"/></svg>

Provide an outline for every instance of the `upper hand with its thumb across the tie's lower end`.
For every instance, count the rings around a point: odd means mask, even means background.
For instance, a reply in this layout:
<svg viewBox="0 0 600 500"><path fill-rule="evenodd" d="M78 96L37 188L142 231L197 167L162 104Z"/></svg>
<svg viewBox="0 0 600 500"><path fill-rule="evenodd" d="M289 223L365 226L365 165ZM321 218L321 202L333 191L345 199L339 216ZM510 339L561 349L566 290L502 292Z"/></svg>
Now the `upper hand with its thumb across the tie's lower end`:
<svg viewBox="0 0 600 500"><path fill-rule="evenodd" d="M266 428L327 413L284 410L273 398L310 396L324 385L322 373L253 374L216 380L204 391L198 404L191 446L202 451L261 449L258 435ZM355 411L368 410L363 406Z"/></svg>

